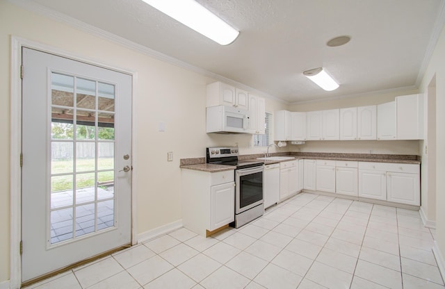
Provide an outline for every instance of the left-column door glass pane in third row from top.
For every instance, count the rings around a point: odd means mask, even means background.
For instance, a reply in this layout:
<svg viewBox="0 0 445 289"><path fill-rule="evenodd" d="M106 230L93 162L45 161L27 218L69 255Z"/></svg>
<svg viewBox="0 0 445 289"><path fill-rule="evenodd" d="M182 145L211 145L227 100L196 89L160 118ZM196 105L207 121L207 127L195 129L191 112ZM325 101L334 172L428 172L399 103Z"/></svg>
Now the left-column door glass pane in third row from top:
<svg viewBox="0 0 445 289"><path fill-rule="evenodd" d="M51 142L51 174L70 173L73 163L72 142Z"/></svg>

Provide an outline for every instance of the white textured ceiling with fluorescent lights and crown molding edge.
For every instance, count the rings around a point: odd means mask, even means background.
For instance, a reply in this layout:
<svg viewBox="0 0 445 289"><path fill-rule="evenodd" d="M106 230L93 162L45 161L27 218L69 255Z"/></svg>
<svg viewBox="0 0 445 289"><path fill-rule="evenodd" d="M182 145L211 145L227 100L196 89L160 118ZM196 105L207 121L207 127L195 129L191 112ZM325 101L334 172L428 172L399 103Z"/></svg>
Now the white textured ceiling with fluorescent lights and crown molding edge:
<svg viewBox="0 0 445 289"><path fill-rule="evenodd" d="M241 31L220 46L140 0L30 1L289 102L414 88L444 15L444 0L198 0ZM316 67L340 88L302 75Z"/></svg>

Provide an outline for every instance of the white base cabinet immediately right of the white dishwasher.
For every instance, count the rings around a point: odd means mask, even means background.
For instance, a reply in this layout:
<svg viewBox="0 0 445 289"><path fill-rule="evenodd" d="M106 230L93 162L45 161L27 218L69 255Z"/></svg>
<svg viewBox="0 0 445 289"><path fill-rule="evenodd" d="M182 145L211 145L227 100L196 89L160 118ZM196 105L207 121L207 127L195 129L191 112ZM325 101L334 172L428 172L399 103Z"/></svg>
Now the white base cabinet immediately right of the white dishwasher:
<svg viewBox="0 0 445 289"><path fill-rule="evenodd" d="M280 163L280 201L298 190L298 160Z"/></svg>

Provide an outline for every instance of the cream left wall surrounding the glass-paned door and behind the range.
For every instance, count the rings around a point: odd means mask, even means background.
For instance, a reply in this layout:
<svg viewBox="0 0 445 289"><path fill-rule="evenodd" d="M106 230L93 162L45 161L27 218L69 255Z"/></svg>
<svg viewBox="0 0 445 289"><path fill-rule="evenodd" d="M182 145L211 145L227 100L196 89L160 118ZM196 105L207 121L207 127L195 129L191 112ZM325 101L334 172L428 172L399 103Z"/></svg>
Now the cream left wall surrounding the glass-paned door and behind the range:
<svg viewBox="0 0 445 289"><path fill-rule="evenodd" d="M250 135L207 135L205 92L214 79L165 63L47 17L0 0L0 283L9 279L10 254L10 38L14 35L67 51L95 62L137 72L133 97L133 194L137 233L181 220L180 158L203 157L211 145L234 145L241 154L261 153L249 147ZM266 99L266 110L286 104ZM158 131L159 122L165 132ZM174 161L167 162L173 151Z"/></svg>

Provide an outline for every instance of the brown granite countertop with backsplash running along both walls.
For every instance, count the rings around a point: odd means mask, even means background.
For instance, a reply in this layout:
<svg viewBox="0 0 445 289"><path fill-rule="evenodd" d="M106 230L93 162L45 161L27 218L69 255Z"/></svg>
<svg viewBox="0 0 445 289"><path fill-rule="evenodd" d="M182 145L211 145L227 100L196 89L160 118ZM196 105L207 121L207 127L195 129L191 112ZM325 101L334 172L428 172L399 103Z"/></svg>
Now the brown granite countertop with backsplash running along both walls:
<svg viewBox="0 0 445 289"><path fill-rule="evenodd" d="M339 154L339 153L274 153L271 156L292 156L296 160L348 160L358 162L374 162L374 163L406 163L419 165L421 163L419 156L414 155L391 155L391 154ZM263 158L264 154L250 154L238 156L239 160L246 161L263 161L265 165L273 163L282 163L291 160L257 160ZM232 165L210 165L206 163L205 158L183 158L181 159L182 169L199 170L203 172L223 172L227 170L235 170Z"/></svg>

